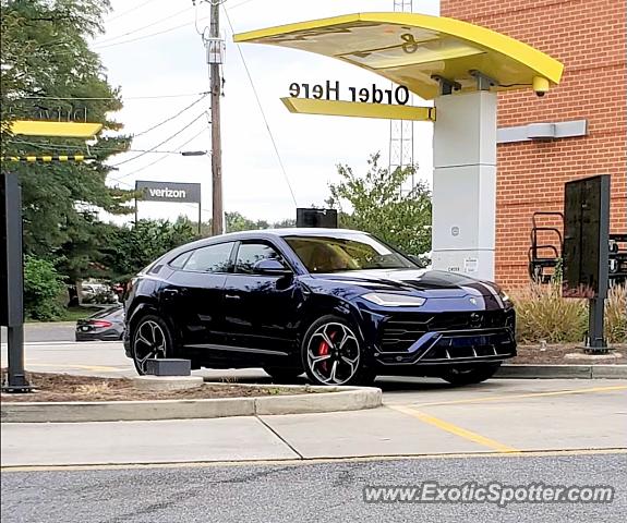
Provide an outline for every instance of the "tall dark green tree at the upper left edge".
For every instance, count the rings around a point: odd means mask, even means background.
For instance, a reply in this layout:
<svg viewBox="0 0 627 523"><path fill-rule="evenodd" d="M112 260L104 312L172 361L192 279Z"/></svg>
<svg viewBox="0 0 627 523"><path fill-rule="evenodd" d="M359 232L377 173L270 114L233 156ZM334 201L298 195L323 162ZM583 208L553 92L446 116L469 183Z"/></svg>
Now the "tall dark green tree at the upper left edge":
<svg viewBox="0 0 627 523"><path fill-rule="evenodd" d="M121 125L108 114L121 109L119 89L109 85L99 57L87 39L101 33L108 0L0 0L2 153L11 156L89 154L83 163L11 163L22 183L24 250L59 259L72 279L92 276L97 257L91 229L99 209L126 214L133 192L106 185L105 161L128 149L128 136L113 136ZM87 148L79 138L11 136L17 118L58 119L85 114L103 123L109 137ZM73 257L76 258L73 259Z"/></svg>

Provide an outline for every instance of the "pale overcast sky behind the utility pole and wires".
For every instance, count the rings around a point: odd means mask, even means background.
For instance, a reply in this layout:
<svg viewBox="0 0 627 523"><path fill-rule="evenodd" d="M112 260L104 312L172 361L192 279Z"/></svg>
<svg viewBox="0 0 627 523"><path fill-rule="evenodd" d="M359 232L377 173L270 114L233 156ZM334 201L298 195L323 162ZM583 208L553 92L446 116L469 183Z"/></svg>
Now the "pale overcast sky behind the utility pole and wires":
<svg viewBox="0 0 627 523"><path fill-rule="evenodd" d="M106 34L93 42L93 49L100 53L110 83L121 87L124 108L114 119L124 124L124 132L142 133L192 104L198 98L197 94L208 90L205 50L194 20L197 15L201 31L207 26L209 5L201 0L196 3L197 13L192 0L112 0L113 11L107 16ZM413 11L437 14L438 3L438 0L413 0ZM339 14L393 11L394 0L228 0L225 8L236 33L241 33ZM225 209L268 221L293 218L294 203L288 183L224 12L221 29L227 41L222 98ZM389 122L291 114L280 101L280 97L288 96L292 82L317 84L337 80L346 89L372 86L373 82L387 88L387 81L340 61L302 51L254 44L241 45L241 50L299 206L323 204L328 197L328 183L337 181L338 162L363 171L369 155L381 151L382 162L387 166ZM157 96L160 98L145 98ZM180 117L137 136L132 148L154 147L204 111L208 112L208 104L207 97ZM414 98L414 104L423 102ZM197 137L191 139L195 135ZM419 163L419 175L429 183L431 141L431 124L417 122L414 160ZM178 150L185 142L189 143L184 150L210 149L207 117L200 117L157 150ZM135 180L202 183L203 219L210 217L208 156L145 154L138 157L140 154L126 153L110 160L111 165L123 161L118 171L110 174L111 185L128 188ZM140 204L141 218L176 218L180 214L197 216L193 204Z"/></svg>

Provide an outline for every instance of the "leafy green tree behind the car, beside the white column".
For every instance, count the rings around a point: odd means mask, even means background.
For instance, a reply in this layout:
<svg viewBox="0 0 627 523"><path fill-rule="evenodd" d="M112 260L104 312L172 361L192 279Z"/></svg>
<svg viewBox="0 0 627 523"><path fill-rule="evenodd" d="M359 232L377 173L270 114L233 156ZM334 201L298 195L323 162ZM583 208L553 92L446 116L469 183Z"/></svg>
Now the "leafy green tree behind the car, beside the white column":
<svg viewBox="0 0 627 523"><path fill-rule="evenodd" d="M401 191L413 168L389 172L378 160L378 154L371 156L364 175L339 165L341 180L329 185L327 205L338 209L342 228L370 232L408 254L431 251L429 187L419 181L410 192Z"/></svg>

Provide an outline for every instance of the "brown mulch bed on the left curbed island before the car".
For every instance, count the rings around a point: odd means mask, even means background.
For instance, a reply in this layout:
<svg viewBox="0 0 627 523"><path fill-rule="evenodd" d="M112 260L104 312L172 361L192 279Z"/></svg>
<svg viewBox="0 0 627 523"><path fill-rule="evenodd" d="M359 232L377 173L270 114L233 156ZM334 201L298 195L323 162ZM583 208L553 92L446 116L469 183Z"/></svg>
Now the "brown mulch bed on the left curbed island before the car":
<svg viewBox="0 0 627 523"><path fill-rule="evenodd" d="M2 380L4 372L2 372ZM2 393L2 401L134 401L134 400L206 400L214 398L251 398L313 392L308 388L255 388L246 385L208 385L197 389L153 391L136 389L129 378L97 378L68 374L28 373L37 388L26 394Z"/></svg>

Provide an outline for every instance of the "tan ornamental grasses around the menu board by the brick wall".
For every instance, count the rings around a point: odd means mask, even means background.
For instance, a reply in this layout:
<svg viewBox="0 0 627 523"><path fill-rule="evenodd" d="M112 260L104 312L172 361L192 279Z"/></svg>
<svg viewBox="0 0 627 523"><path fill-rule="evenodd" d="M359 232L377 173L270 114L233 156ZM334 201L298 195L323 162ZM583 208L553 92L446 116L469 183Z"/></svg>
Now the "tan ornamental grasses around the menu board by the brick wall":
<svg viewBox="0 0 627 523"><path fill-rule="evenodd" d="M520 343L583 342L588 331L588 301L562 297L562 282L511 292L516 305L516 338ZM605 302L608 343L627 342L627 288L614 287Z"/></svg>

